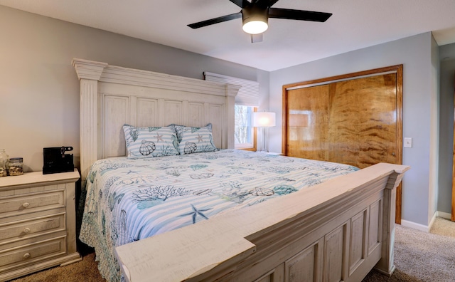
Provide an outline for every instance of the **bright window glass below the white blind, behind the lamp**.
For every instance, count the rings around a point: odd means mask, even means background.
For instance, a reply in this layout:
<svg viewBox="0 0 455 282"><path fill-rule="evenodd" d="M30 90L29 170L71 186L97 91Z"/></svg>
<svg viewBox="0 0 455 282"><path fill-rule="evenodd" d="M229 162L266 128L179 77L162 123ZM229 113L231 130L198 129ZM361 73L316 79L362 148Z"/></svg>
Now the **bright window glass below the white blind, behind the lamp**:
<svg viewBox="0 0 455 282"><path fill-rule="evenodd" d="M252 126L255 107L235 105L235 149L256 150L256 129Z"/></svg>

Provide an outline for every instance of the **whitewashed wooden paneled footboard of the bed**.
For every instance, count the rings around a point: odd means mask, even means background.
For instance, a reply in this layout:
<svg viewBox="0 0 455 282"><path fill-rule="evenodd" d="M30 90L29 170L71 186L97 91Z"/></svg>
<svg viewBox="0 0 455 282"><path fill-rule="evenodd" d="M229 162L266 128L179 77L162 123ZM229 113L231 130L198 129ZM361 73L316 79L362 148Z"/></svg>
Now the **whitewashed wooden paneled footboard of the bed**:
<svg viewBox="0 0 455 282"><path fill-rule="evenodd" d="M361 281L393 264L395 190L375 164L116 249L127 281Z"/></svg>

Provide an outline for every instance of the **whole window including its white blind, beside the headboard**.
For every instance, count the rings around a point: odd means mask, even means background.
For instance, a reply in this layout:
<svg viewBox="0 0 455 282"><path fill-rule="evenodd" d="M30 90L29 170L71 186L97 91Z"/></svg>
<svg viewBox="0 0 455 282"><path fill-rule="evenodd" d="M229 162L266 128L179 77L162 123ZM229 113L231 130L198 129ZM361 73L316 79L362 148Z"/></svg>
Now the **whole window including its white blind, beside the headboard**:
<svg viewBox="0 0 455 282"><path fill-rule="evenodd" d="M235 149L256 150L256 129L252 126L252 113L259 105L259 83L253 80L204 72L205 80L240 85L235 96Z"/></svg>

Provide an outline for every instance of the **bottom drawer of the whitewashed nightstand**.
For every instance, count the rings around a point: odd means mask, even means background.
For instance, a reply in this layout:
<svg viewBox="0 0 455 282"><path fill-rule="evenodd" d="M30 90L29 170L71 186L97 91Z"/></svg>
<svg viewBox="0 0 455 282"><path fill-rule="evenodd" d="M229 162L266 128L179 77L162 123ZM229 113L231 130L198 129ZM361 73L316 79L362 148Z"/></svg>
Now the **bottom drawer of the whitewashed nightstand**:
<svg viewBox="0 0 455 282"><path fill-rule="evenodd" d="M51 256L65 255L65 236L49 241L41 241L11 251L0 253L0 272L5 268L16 268L23 264L36 263Z"/></svg>

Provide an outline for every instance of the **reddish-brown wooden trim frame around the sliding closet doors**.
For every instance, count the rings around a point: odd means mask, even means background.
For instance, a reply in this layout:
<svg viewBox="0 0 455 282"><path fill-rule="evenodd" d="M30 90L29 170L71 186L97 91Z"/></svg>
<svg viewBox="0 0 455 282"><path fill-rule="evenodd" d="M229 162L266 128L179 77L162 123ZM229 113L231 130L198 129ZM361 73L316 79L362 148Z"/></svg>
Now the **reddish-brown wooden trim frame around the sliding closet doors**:
<svg viewBox="0 0 455 282"><path fill-rule="evenodd" d="M344 75L336 75L331 76L328 78L320 78L316 80L308 80L299 83L292 83L288 85L283 85L283 109L282 109L282 152L284 155L287 155L287 139L288 139L288 130L287 130L287 112L288 112L288 90L296 89L296 88L304 88L310 87L314 85L323 85L328 83L333 83L336 81L343 81L343 80L351 80L356 78L363 78L367 76L373 75L381 75L385 73L396 73L397 80L396 80L396 89L397 89L397 163L402 164L402 135L403 135L403 65L396 65L396 66L388 66L385 68L375 68L373 70L368 71L360 71L357 73L348 73ZM455 119L454 119L454 127L455 127ZM455 148L455 143L454 143ZM455 155L454 155L455 160ZM455 166L454 166L455 169ZM455 191L455 186L454 186ZM452 193L454 194L454 193ZM455 197L453 197L452 202L455 201ZM397 224L401 224L401 206L402 206L402 184L397 187L397 203L396 203L396 210L395 210L395 222ZM454 205L452 205L452 218L454 218Z"/></svg>

